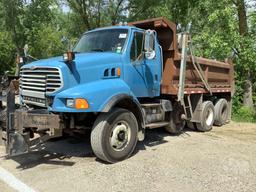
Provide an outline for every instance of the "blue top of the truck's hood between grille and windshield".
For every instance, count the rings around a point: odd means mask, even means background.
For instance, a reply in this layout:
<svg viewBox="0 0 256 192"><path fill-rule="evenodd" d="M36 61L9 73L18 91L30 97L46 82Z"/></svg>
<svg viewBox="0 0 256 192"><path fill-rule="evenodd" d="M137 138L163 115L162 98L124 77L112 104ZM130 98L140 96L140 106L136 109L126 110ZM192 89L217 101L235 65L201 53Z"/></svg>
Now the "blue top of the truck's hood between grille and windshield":
<svg viewBox="0 0 256 192"><path fill-rule="evenodd" d="M24 65L22 68L57 67L61 70L64 86L61 90L102 79L105 69L121 65L118 53L77 53L74 62L67 64L62 57L43 59Z"/></svg>

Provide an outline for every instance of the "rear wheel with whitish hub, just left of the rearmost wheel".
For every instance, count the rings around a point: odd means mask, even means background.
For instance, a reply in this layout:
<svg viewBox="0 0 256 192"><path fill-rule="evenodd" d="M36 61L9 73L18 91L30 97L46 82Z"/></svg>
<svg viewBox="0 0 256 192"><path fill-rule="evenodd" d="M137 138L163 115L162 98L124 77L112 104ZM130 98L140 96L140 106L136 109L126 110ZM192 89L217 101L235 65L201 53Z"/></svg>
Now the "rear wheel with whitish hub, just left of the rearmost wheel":
<svg viewBox="0 0 256 192"><path fill-rule="evenodd" d="M211 101L205 101L201 105L200 123L196 123L198 131L210 131L214 122L214 106Z"/></svg>

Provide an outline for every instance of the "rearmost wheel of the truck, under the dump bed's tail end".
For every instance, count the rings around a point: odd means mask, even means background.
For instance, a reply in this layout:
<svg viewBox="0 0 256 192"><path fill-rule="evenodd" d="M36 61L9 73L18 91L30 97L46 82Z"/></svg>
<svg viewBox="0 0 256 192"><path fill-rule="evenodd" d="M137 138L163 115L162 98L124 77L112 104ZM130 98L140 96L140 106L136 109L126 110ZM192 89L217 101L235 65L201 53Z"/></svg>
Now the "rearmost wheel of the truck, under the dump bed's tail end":
<svg viewBox="0 0 256 192"><path fill-rule="evenodd" d="M229 107L226 99L219 99L215 106L214 125L222 126L228 121Z"/></svg>

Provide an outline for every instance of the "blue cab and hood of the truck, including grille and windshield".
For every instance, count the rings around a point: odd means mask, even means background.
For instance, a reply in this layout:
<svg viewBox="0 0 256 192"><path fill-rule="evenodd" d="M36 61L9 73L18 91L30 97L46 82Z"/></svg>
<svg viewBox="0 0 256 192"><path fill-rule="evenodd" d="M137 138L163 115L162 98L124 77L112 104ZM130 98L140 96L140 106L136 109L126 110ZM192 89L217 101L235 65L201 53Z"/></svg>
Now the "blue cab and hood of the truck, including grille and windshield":
<svg viewBox="0 0 256 192"><path fill-rule="evenodd" d="M152 53L144 51L145 38L152 41ZM72 61L56 57L22 67L21 101L52 112L101 112L118 95L160 95L161 46L153 31L129 26L96 29L83 34L73 52ZM77 109L74 102L81 98L87 108Z"/></svg>

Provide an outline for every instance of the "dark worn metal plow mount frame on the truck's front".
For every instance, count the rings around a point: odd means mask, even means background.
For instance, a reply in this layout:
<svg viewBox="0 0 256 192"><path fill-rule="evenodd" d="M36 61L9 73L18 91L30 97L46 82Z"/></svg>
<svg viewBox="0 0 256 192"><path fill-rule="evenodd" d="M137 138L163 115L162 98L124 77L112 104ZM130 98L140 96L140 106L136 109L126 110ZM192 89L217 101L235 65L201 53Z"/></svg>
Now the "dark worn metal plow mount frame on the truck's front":
<svg viewBox="0 0 256 192"><path fill-rule="evenodd" d="M2 111L6 115L2 122L1 139L5 145L8 157L21 155L51 138L62 136L62 123L60 115L49 113L46 109L27 110L16 109L15 95L17 88L10 83L5 99L6 107ZM3 113L1 113L3 115ZM1 117L1 120L3 118Z"/></svg>

